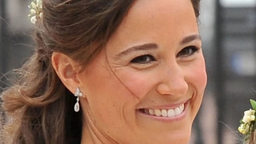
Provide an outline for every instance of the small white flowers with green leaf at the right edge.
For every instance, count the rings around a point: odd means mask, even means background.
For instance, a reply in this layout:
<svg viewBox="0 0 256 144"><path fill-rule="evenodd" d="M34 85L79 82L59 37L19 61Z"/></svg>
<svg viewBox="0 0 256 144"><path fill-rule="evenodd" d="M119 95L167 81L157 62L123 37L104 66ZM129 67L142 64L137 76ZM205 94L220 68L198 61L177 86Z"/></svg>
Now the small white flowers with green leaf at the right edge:
<svg viewBox="0 0 256 144"><path fill-rule="evenodd" d="M240 120L240 126L238 127L238 131L241 134L246 135L244 142L250 139L250 135L256 129L256 101L250 99L250 103L252 105L252 109L244 111L244 116Z"/></svg>

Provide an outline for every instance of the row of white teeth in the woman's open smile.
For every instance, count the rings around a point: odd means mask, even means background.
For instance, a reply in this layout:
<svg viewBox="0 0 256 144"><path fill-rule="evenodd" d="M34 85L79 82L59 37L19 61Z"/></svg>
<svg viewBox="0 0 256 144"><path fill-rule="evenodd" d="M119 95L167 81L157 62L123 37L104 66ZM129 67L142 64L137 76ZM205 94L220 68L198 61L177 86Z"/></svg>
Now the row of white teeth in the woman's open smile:
<svg viewBox="0 0 256 144"><path fill-rule="evenodd" d="M174 109L144 109L144 113L152 116L162 116L172 118L180 115L184 111L184 104Z"/></svg>

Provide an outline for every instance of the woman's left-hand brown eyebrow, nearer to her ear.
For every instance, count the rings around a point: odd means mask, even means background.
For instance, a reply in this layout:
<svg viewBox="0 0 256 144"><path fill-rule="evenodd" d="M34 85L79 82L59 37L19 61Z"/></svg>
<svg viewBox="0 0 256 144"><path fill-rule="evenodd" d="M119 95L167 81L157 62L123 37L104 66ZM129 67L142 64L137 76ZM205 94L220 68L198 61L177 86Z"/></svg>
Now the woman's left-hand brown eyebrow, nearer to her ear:
<svg viewBox="0 0 256 144"><path fill-rule="evenodd" d="M142 44L142 45L138 45L138 46L132 46L124 51L122 51L121 53L116 55L116 58L119 58L122 55L126 55L129 54L131 52L134 51L139 51L139 50L153 50L158 48L158 44L156 43L147 43L147 44Z"/></svg>

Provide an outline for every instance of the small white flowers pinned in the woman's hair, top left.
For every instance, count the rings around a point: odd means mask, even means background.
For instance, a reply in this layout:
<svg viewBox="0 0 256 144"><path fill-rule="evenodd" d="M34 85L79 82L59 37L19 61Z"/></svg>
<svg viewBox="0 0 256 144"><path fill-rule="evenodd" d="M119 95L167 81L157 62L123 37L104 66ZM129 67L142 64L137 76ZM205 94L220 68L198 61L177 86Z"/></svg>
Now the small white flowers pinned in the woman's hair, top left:
<svg viewBox="0 0 256 144"><path fill-rule="evenodd" d="M43 16L42 0L33 0L28 5L28 8L30 8L30 14L28 14L30 21L32 24L36 24L37 19L42 18L42 16Z"/></svg>

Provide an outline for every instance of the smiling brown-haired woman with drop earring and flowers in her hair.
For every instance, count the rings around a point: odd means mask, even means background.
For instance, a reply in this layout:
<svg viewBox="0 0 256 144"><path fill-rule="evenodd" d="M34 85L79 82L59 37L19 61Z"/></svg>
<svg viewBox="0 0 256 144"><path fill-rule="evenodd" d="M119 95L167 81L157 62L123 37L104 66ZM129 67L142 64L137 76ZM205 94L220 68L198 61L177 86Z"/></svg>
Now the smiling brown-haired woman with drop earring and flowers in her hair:
<svg viewBox="0 0 256 144"><path fill-rule="evenodd" d="M2 94L12 143L188 143L206 86L198 9L199 0L42 0L36 51Z"/></svg>

